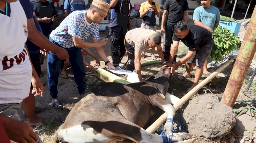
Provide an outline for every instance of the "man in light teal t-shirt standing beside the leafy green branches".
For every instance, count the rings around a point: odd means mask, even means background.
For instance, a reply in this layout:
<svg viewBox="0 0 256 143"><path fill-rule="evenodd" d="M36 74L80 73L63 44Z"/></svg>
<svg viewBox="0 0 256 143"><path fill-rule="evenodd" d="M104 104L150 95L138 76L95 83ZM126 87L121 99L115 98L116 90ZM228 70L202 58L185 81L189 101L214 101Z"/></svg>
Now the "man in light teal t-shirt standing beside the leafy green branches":
<svg viewBox="0 0 256 143"><path fill-rule="evenodd" d="M219 25L221 19L219 15L219 10L217 7L211 5L212 0L201 0L201 5L195 9L193 14L193 21L195 25L201 26L211 33L214 28ZM208 59L203 65L203 75L209 76L210 72L207 71ZM187 64L186 64L187 66ZM192 66L193 67L193 66ZM185 74L180 75L179 78L190 77L191 69L188 69Z"/></svg>

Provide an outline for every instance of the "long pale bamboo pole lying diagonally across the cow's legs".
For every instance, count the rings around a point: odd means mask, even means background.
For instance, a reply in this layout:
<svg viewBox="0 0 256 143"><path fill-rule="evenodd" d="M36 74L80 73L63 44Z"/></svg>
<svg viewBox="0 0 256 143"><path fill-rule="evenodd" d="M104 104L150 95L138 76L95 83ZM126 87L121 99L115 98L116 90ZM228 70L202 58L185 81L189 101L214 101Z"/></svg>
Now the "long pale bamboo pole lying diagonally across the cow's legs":
<svg viewBox="0 0 256 143"><path fill-rule="evenodd" d="M176 104L173 105L175 111L179 109L187 100L190 99L199 89L201 89L204 85L206 85L211 79L213 79L218 73L228 67L234 60L230 59L223 66L213 72L210 76L205 78L201 83L199 83L196 87L191 89L186 95L184 95ZM167 119L167 113L163 113L150 127L146 129L147 132L153 133L163 122Z"/></svg>

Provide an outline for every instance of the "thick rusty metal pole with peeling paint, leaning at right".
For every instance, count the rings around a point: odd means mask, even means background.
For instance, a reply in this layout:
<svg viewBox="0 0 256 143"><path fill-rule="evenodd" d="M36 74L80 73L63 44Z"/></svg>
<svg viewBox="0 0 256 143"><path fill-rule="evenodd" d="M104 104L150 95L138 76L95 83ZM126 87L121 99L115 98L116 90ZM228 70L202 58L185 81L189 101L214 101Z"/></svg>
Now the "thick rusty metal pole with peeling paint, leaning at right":
<svg viewBox="0 0 256 143"><path fill-rule="evenodd" d="M229 77L226 89L223 93L221 103L230 107L234 106L244 78L253 60L256 51L256 8L254 8L252 18Z"/></svg>

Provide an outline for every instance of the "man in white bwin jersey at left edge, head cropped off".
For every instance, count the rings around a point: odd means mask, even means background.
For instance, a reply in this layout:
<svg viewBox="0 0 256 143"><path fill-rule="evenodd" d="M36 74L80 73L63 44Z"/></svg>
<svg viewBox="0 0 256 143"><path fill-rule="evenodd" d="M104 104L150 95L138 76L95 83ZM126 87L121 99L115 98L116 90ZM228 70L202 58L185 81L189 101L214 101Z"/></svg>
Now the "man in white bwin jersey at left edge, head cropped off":
<svg viewBox="0 0 256 143"><path fill-rule="evenodd" d="M43 95L43 85L31 66L27 40L27 18L17 0L0 0L0 122L15 142L40 141L32 128L18 115L21 102L32 93ZM32 79L31 79L32 76Z"/></svg>

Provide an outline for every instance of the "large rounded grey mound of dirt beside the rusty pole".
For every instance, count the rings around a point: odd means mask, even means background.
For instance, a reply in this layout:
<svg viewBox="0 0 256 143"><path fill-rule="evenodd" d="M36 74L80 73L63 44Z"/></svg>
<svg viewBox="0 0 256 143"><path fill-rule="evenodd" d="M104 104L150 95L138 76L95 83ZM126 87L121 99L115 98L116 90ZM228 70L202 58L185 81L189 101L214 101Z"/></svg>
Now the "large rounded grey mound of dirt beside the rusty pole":
<svg viewBox="0 0 256 143"><path fill-rule="evenodd" d="M227 135L236 124L236 114L232 108L210 94L191 100L184 109L183 118L190 133L206 138Z"/></svg>

